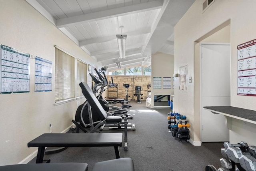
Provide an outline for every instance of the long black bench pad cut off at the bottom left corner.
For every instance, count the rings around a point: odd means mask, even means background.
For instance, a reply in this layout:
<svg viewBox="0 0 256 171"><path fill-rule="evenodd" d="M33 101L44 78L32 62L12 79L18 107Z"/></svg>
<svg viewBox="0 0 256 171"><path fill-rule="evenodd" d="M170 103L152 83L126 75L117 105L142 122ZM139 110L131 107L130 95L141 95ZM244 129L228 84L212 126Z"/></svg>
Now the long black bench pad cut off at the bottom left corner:
<svg viewBox="0 0 256 171"><path fill-rule="evenodd" d="M0 166L0 171L88 171L86 163L39 163Z"/></svg>

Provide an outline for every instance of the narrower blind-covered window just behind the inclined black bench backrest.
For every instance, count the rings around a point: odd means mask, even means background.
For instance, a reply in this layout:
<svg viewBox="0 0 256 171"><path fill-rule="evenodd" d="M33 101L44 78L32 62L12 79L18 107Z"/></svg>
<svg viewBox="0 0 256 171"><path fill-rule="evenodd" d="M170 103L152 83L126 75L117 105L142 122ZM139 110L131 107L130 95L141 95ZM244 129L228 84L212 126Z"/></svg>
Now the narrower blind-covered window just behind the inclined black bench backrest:
<svg viewBox="0 0 256 171"><path fill-rule="evenodd" d="M87 82L87 64L82 60L76 60L76 97L82 96L81 87L79 86L80 82Z"/></svg>

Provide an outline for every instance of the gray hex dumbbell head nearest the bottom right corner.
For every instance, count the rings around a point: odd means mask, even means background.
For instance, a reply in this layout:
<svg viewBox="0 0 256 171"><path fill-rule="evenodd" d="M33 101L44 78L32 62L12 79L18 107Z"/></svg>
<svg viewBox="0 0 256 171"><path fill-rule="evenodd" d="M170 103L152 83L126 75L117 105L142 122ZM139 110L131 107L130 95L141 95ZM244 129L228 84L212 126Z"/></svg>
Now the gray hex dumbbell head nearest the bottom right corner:
<svg viewBox="0 0 256 171"><path fill-rule="evenodd" d="M256 170L256 159L251 155L242 155L239 157L240 165L246 171L255 171Z"/></svg>

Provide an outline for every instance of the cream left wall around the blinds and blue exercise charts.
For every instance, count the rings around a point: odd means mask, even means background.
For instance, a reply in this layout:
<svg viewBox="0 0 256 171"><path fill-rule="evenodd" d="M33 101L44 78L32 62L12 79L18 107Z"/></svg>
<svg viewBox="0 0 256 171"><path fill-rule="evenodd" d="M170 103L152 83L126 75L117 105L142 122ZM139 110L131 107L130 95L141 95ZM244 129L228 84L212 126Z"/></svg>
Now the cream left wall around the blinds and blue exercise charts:
<svg viewBox="0 0 256 171"><path fill-rule="evenodd" d="M49 124L53 133L72 125L76 101L54 106L54 45L96 68L100 65L25 0L0 0L0 44L50 60L53 66L52 91L34 92L35 60L30 59L30 92L0 95L0 165L8 165L36 151L27 143L49 133ZM85 99L80 100L82 103Z"/></svg>

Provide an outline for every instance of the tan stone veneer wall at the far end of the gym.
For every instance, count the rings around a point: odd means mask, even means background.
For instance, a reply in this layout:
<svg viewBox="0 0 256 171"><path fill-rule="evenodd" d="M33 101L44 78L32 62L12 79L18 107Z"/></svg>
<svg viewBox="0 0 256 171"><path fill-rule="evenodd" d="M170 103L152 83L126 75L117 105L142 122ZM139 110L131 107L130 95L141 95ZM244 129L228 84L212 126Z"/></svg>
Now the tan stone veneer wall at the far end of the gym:
<svg viewBox="0 0 256 171"><path fill-rule="evenodd" d="M117 90L116 88L109 88L106 94L106 97L116 97L116 98L125 99L126 89L124 88L123 84L130 84L131 86L128 88L128 95L130 95L130 97L128 98L128 100L130 99L137 100L137 97L133 96L132 94L132 84L133 84L134 86L133 93L135 93L136 85L142 86L141 93L143 94L142 95L143 99L141 100L146 100L147 91L148 91L147 85L151 84L151 76L112 76L112 77L113 77L114 83L118 84L118 96L117 96L117 92L112 92L112 90ZM111 76L108 76L108 80L109 81L111 80ZM132 80L134 81L132 82Z"/></svg>

